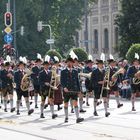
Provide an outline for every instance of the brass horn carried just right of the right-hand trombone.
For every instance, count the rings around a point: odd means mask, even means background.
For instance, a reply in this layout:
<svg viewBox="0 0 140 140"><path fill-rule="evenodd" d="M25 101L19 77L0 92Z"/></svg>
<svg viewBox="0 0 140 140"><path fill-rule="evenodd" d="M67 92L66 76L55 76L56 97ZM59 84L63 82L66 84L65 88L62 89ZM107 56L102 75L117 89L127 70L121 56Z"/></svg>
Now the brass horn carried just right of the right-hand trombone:
<svg viewBox="0 0 140 140"><path fill-rule="evenodd" d="M117 72L115 72L115 73L112 75L111 81L110 81L110 83L109 83L111 87L114 86L114 85L116 84L116 82L117 82L117 80L118 80L119 74L121 74L121 73L123 74L124 71L125 71L124 68L120 68Z"/></svg>

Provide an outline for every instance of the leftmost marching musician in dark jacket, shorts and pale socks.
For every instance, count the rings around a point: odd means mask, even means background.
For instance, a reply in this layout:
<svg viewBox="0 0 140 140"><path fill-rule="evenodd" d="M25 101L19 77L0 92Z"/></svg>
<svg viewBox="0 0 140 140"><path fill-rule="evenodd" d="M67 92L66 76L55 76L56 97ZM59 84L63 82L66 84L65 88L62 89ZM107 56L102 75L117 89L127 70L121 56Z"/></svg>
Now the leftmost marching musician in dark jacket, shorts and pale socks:
<svg viewBox="0 0 140 140"><path fill-rule="evenodd" d="M10 70L10 62L5 62L4 69L1 71L2 95L4 111L7 112L8 96L10 98L11 112L15 111L13 107L13 72Z"/></svg>

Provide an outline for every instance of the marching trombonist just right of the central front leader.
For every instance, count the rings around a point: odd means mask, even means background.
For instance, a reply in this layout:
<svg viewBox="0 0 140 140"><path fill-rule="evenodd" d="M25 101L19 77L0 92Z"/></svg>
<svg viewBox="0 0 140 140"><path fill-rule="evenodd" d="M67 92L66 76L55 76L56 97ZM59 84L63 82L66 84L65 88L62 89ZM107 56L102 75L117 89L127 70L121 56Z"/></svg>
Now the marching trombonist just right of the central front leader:
<svg viewBox="0 0 140 140"><path fill-rule="evenodd" d="M98 103L98 99L103 98L104 101L104 109L105 109L105 116L108 117L110 113L107 111L107 95L108 90L106 89L107 81L105 79L106 72L103 67L103 60L96 60L97 61L97 68L93 70L91 74L91 87L94 90L94 116L98 116L96 107Z"/></svg>

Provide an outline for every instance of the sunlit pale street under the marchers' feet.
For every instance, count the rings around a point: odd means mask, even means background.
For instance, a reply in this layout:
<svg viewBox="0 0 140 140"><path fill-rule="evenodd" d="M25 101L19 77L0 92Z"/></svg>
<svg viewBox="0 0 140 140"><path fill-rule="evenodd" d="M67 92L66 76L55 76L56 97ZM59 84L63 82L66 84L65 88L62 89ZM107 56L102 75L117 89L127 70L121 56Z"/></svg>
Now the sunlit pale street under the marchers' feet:
<svg viewBox="0 0 140 140"><path fill-rule="evenodd" d="M109 112L105 117L103 104L98 106L99 116L93 116L93 99L89 99L90 106L85 104L86 113L80 113L84 122L77 124L75 114L70 113L69 122L64 123L64 111L55 112L58 118L51 118L50 108L45 110L45 119L40 119L40 109L35 109L31 116L27 115L23 102L21 113L5 113L0 109L0 138L4 140L33 139L33 140L140 140L140 99L136 101L136 111L131 111L131 102L121 100L122 108L116 107L116 101L110 99ZM40 104L40 102L39 102ZM38 104L38 106L39 106ZM34 103L31 108L34 107ZM8 110L9 111L9 110Z"/></svg>

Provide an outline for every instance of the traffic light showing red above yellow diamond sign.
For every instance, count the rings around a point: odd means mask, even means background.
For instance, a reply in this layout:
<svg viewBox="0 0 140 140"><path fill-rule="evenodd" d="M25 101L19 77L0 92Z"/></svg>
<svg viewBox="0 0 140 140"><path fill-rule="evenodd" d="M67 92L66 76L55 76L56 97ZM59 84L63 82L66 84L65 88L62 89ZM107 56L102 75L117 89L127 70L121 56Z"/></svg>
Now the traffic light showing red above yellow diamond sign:
<svg viewBox="0 0 140 140"><path fill-rule="evenodd" d="M10 12L6 12L4 14L4 22L5 22L5 26L12 25L12 14Z"/></svg>

